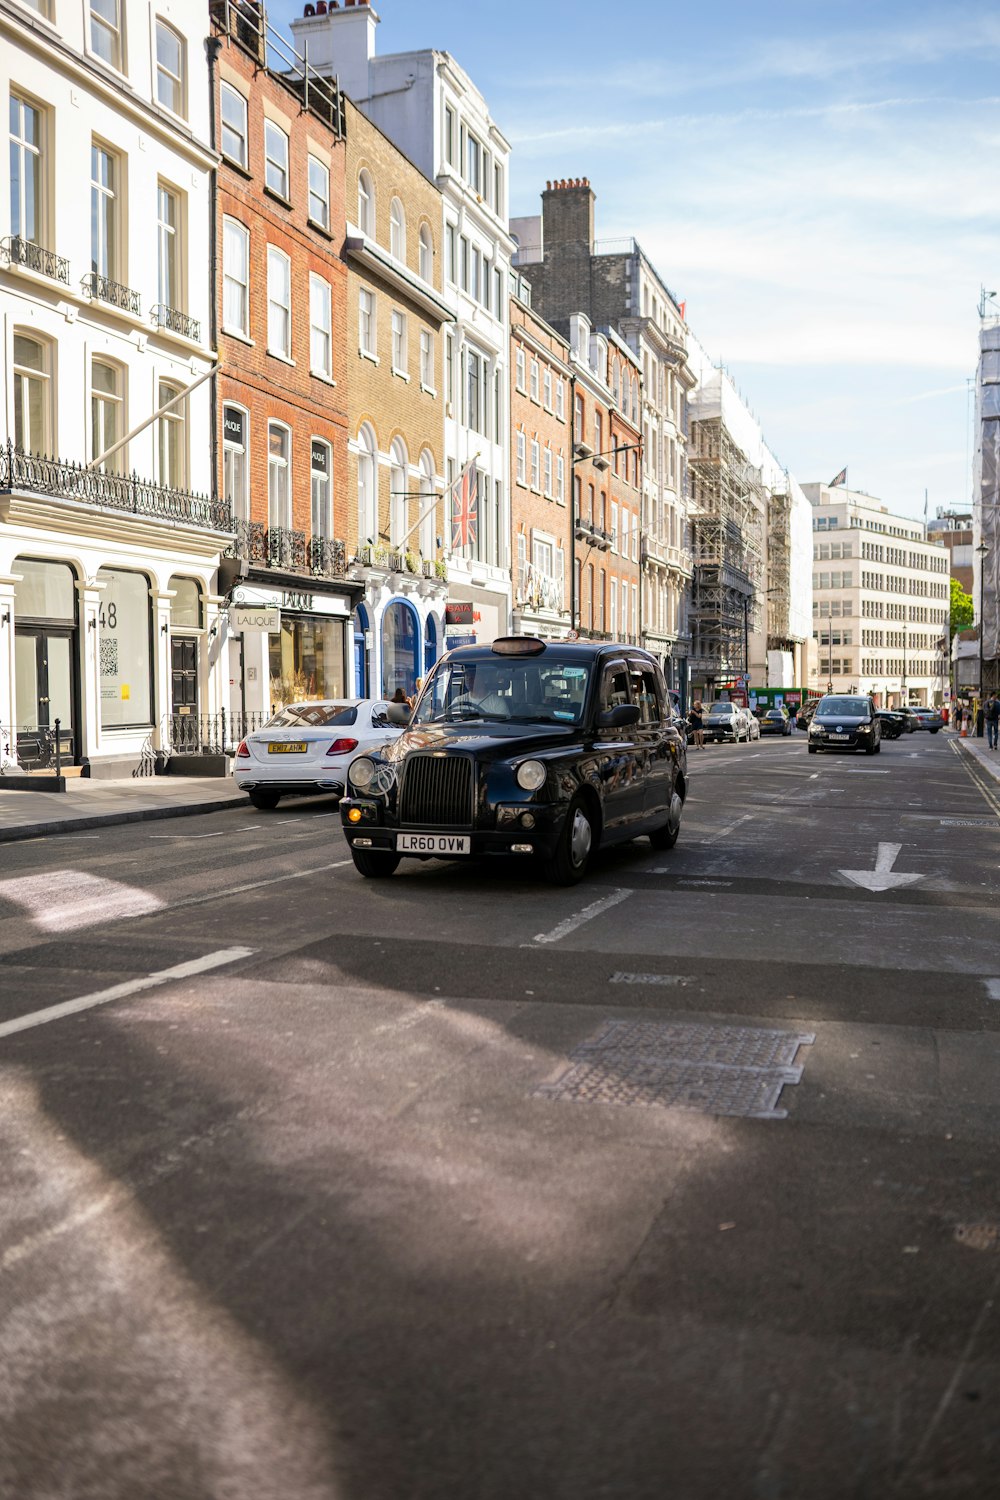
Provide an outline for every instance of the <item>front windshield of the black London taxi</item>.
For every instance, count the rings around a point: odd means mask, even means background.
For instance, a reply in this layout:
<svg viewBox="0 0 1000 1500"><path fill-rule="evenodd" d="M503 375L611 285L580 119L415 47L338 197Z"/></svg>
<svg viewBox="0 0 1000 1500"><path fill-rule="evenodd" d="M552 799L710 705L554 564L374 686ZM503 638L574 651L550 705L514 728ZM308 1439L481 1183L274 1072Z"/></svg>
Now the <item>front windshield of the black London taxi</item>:
<svg viewBox="0 0 1000 1500"><path fill-rule="evenodd" d="M466 720L579 724L591 668L546 652L516 662L441 662L420 694L412 724Z"/></svg>

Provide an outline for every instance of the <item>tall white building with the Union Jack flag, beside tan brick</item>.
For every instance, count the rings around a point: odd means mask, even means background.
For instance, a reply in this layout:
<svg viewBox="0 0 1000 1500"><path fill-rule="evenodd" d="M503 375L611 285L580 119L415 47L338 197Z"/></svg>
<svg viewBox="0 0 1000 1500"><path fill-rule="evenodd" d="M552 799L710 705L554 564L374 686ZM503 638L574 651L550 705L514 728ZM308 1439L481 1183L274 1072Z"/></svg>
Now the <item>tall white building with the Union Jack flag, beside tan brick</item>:
<svg viewBox="0 0 1000 1500"><path fill-rule="evenodd" d="M378 15L345 6L292 21L297 48L442 194L442 292L453 312L441 370L445 393L445 482L472 464L478 477L472 537L454 534L450 506L448 600L471 603L462 634L505 634L511 616L508 414L510 144L469 75L433 50L378 57Z"/></svg>

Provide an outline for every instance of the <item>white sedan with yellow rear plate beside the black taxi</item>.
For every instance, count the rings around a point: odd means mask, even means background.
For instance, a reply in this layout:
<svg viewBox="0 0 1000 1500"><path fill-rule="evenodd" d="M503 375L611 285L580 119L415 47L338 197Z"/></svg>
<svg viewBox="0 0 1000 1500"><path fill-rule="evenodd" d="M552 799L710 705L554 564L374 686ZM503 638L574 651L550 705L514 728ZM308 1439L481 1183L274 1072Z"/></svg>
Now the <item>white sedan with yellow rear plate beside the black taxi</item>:
<svg viewBox="0 0 1000 1500"><path fill-rule="evenodd" d="M396 740L408 722L405 704L379 698L289 704L240 741L235 784L261 808L277 807L282 796L342 796L351 760Z"/></svg>

